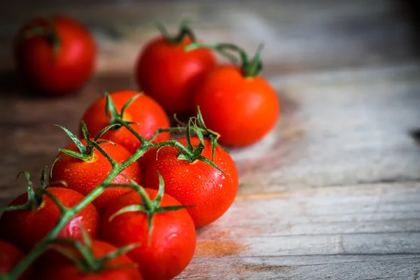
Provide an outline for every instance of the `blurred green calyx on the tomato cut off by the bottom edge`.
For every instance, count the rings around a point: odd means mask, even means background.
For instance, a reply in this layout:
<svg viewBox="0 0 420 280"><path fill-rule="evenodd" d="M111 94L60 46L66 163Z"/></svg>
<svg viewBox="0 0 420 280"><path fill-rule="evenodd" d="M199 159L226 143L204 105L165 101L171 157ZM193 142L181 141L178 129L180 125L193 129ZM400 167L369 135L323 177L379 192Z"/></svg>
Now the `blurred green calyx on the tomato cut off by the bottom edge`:
<svg viewBox="0 0 420 280"><path fill-rule="evenodd" d="M87 274L100 273L105 269L118 269L129 266L137 266L135 263L130 265L110 265L108 262L113 258L118 257L119 255L123 255L128 251L131 251L132 249L139 246L139 244L123 246L117 248L111 253L104 255L103 257L97 258L94 256L92 250L92 241L90 241L90 237L84 228L82 228L82 234L83 241L75 241L71 239L55 239L50 242L50 246L52 246L55 251L62 253L62 255L65 255L67 258L72 260L81 272ZM66 247L70 247L73 250Z"/></svg>

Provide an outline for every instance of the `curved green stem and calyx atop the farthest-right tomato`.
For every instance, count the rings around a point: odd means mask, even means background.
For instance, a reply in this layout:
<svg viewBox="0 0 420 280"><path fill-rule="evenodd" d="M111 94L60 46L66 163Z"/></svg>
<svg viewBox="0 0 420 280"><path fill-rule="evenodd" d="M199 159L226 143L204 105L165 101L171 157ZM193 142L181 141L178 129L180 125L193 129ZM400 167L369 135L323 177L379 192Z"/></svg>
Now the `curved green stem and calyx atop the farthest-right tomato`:
<svg viewBox="0 0 420 280"><path fill-rule="evenodd" d="M215 52L220 53L221 55L227 57L233 64L238 63L238 59L235 55L232 55L231 52L236 53L239 55L240 66L242 75L245 78L252 78L258 76L262 70L262 60L261 60L261 53L262 48L264 45L261 43L258 45L258 49L255 52L255 55L252 59L248 58L248 54L245 52L243 48L238 47L237 45L231 43L219 43L214 45L209 44L200 44L200 43L192 43L188 45L184 50L195 50L197 48L208 48L210 50L214 50Z"/></svg>

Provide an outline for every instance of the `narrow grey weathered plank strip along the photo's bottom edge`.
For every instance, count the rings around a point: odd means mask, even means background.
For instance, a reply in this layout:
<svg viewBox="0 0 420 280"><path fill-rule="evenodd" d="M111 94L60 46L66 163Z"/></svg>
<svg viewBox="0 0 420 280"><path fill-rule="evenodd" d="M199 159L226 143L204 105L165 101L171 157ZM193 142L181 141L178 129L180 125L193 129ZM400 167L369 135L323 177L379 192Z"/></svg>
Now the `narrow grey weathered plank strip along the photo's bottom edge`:
<svg viewBox="0 0 420 280"><path fill-rule="evenodd" d="M176 279L416 280L420 255L195 258Z"/></svg>

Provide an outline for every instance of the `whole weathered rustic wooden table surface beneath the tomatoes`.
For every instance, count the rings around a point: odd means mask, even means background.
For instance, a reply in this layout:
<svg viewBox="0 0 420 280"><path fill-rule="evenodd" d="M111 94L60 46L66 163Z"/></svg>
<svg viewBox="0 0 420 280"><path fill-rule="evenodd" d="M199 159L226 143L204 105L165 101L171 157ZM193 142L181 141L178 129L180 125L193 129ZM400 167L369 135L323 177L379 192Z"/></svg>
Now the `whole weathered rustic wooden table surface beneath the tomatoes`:
<svg viewBox="0 0 420 280"><path fill-rule="evenodd" d="M231 149L237 200L198 230L179 279L419 279L420 59L405 1L73 1L0 4L0 206L25 189L76 130L99 90L135 88L131 70L156 34L191 20L209 42L253 52L264 42L278 90L274 132ZM100 46L97 76L62 99L28 97L13 76L10 40L36 13L85 22Z"/></svg>

